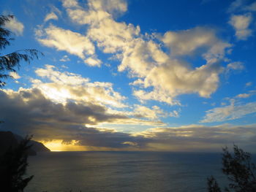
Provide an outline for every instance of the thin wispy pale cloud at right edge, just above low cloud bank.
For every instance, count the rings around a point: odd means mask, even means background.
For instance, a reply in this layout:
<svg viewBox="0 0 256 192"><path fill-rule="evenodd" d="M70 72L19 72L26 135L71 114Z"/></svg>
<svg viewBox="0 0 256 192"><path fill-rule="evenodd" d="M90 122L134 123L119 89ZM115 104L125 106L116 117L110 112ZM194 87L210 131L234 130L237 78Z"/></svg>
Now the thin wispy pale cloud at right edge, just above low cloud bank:
<svg viewBox="0 0 256 192"><path fill-rule="evenodd" d="M240 97L245 96L241 95ZM247 104L235 104L235 101L230 101L230 105L225 107L216 107L206 111L206 116L201 123L222 122L226 120L234 120L243 118L245 115L256 112L256 102Z"/></svg>

